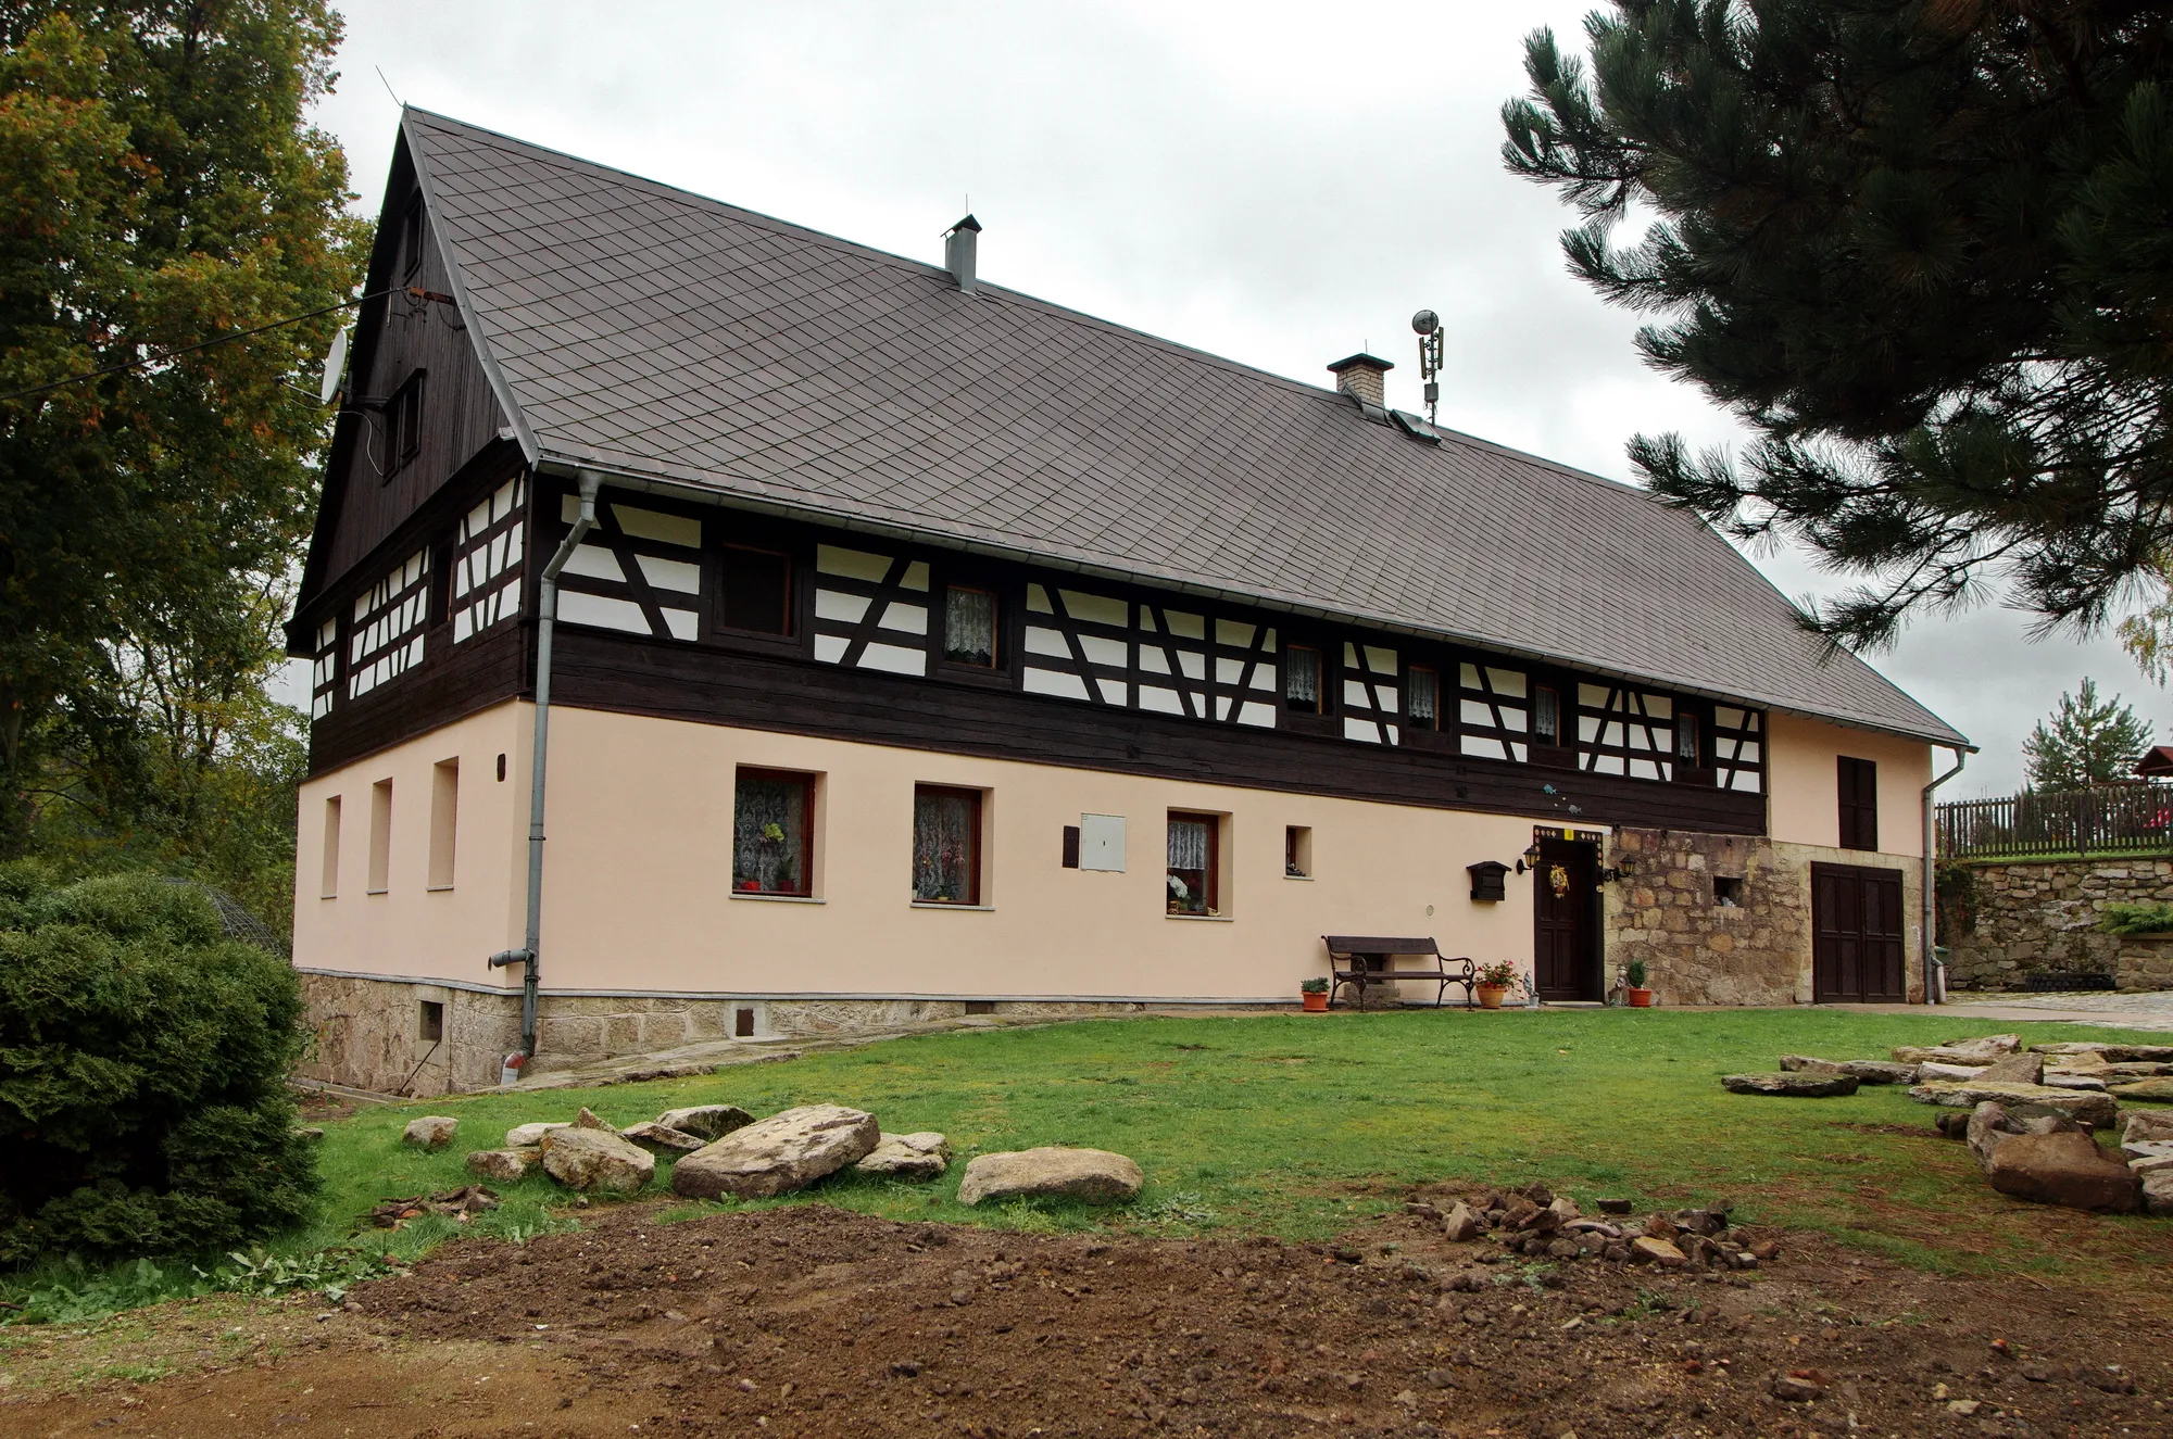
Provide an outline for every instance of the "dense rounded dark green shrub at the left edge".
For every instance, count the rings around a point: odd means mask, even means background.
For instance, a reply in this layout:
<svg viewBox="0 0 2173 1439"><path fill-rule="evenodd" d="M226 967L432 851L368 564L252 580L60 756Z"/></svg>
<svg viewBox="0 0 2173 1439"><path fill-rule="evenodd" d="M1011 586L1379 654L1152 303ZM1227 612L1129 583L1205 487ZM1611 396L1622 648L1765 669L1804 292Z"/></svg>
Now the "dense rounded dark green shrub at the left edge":
<svg viewBox="0 0 2173 1439"><path fill-rule="evenodd" d="M293 969L187 885L0 865L0 1263L204 1254L300 1224Z"/></svg>

